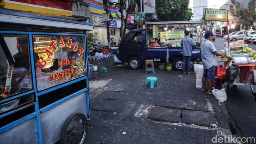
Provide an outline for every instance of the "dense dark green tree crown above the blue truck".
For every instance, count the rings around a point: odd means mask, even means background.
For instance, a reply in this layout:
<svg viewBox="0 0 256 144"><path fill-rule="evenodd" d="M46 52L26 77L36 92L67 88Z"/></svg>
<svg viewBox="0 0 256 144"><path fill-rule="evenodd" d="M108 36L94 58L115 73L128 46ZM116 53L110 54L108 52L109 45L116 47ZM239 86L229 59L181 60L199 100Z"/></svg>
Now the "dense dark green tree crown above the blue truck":
<svg viewBox="0 0 256 144"><path fill-rule="evenodd" d="M192 9L189 0L156 0L157 18L163 22L191 20Z"/></svg>

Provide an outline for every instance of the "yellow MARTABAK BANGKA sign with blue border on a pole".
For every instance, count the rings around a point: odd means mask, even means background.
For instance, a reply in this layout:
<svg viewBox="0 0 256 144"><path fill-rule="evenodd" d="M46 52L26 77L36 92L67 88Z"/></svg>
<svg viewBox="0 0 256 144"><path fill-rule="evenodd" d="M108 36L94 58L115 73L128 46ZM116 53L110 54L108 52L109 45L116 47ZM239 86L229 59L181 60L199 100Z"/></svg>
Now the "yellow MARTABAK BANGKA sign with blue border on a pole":
<svg viewBox="0 0 256 144"><path fill-rule="evenodd" d="M204 19L211 21L227 21L229 11L225 9L204 9Z"/></svg>

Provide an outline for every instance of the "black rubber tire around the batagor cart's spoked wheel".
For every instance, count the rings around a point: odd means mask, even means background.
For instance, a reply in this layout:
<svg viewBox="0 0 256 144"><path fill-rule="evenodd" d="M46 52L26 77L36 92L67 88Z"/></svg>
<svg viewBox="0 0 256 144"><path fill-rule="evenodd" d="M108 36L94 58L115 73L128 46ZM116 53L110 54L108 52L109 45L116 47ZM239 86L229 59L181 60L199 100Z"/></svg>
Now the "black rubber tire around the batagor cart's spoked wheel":
<svg viewBox="0 0 256 144"><path fill-rule="evenodd" d="M72 114L71 117L69 117L65 123L63 124L63 127L61 129L61 137L60 137L60 143L61 144L67 144L67 141L66 141L66 132L67 132L67 129L69 127L69 125L71 124L71 122L74 120L74 118L76 117L81 117L82 120L84 120L83 122L85 123L85 129L84 129L84 136L83 136L83 139L80 141L79 144L82 144L86 138L86 134L87 134L87 129L88 129L88 122L87 122L87 119L86 117L84 116L83 113L74 113Z"/></svg>

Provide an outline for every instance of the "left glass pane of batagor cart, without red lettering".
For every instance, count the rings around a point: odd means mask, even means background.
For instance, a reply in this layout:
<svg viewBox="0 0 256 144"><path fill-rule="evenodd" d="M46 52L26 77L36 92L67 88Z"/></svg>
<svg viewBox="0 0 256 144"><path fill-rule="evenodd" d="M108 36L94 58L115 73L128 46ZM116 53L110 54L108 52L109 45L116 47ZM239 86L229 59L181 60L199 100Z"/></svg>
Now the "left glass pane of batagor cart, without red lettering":
<svg viewBox="0 0 256 144"><path fill-rule="evenodd" d="M9 65L9 56L5 55L4 47L0 46L0 98L32 89L28 35L3 34L3 37L15 63ZM34 58L37 61L37 53L34 53Z"/></svg>

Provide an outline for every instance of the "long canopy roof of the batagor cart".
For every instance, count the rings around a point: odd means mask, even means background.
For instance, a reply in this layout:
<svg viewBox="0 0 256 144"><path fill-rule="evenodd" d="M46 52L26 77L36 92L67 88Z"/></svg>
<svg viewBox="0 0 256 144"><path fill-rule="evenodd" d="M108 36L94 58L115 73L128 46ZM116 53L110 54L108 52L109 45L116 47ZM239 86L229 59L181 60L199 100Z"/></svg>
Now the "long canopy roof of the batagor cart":
<svg viewBox="0 0 256 144"><path fill-rule="evenodd" d="M57 19L53 17L31 15L20 12L0 10L0 25L4 25L5 29L8 27L31 27L45 28L46 30L59 30L61 32L69 31L91 31L94 28L93 24L76 22L72 20ZM8 27L6 27L8 26ZM0 29L2 29L0 27Z"/></svg>

